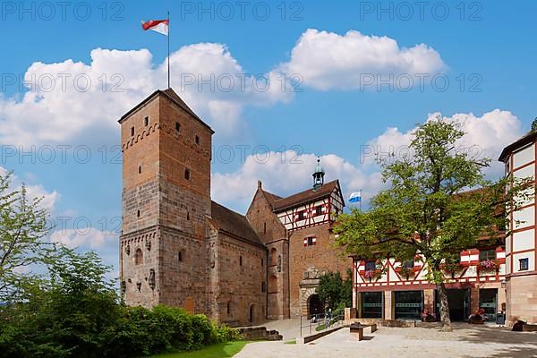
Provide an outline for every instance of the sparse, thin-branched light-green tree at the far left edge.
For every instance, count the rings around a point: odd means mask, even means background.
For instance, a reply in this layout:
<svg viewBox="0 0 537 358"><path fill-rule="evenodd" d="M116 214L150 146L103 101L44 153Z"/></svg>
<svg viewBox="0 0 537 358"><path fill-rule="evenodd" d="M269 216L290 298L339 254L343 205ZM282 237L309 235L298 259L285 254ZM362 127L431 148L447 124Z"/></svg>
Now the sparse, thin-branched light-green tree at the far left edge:
<svg viewBox="0 0 537 358"><path fill-rule="evenodd" d="M0 173L0 302L12 301L31 284L32 265L55 257L54 247L43 240L49 227L40 201L29 200L24 185L13 188L10 173Z"/></svg>

